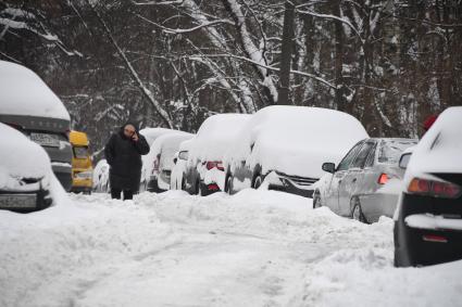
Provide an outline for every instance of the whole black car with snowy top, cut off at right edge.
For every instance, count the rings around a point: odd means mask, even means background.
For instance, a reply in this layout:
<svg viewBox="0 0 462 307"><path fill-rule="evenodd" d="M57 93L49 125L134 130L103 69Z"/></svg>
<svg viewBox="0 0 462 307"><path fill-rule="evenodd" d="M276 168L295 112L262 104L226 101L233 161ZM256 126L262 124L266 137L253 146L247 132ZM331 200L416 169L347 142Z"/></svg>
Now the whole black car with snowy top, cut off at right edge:
<svg viewBox="0 0 462 307"><path fill-rule="evenodd" d="M462 106L442 112L413 150L395 213L395 265L462 258Z"/></svg>

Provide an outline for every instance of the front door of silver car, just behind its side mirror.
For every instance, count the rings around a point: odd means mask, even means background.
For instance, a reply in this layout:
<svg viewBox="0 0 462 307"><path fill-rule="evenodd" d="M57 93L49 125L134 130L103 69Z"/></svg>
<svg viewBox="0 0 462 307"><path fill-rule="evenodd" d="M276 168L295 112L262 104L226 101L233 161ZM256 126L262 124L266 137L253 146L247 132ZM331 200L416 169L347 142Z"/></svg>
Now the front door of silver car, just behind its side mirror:
<svg viewBox="0 0 462 307"><path fill-rule="evenodd" d="M325 204L327 207L329 207L333 212L338 213L338 196L339 196L339 187L341 181L344 180L344 177L347 174L347 170L351 164L351 162L354 159L354 157L357 156L359 150L361 149L362 144L364 143L364 141L359 142L358 144L355 144L348 153L347 155L344 157L344 159L340 162L340 164L338 165L337 169L335 170L335 172L333 174L333 178L330 181L330 186L326 191L326 200L325 200Z"/></svg>

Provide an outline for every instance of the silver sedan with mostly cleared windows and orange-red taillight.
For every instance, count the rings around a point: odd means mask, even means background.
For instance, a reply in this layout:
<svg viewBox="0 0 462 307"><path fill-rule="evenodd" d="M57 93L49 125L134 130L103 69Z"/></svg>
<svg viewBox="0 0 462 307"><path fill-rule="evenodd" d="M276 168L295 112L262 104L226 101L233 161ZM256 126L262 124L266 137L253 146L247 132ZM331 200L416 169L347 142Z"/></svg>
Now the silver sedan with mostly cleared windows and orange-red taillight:
<svg viewBox="0 0 462 307"><path fill-rule="evenodd" d="M323 164L333 176L316 187L313 207L327 206L334 213L363 222L380 216L392 217L404 170L398 163L401 153L414 146L415 139L365 139L355 144L338 167Z"/></svg>

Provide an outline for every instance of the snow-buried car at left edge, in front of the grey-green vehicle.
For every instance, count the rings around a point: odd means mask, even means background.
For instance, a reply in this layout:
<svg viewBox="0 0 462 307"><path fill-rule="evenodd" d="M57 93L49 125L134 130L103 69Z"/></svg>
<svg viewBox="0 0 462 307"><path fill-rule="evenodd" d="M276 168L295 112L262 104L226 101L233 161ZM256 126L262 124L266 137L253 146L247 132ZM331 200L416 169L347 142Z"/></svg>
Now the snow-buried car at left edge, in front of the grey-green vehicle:
<svg viewBox="0 0 462 307"><path fill-rule="evenodd" d="M46 151L0 123L0 209L32 212L53 202L52 169Z"/></svg>

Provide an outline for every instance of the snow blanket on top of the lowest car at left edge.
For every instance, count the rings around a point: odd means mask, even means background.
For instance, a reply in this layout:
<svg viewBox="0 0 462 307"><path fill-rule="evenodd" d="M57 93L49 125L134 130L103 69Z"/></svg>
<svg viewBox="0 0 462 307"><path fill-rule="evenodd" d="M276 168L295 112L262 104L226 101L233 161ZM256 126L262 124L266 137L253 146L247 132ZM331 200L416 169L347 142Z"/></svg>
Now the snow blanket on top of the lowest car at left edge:
<svg viewBox="0 0 462 307"><path fill-rule="evenodd" d="M0 189L9 187L11 178L42 178L51 171L50 158L39 144L1 123L0 143Z"/></svg>

